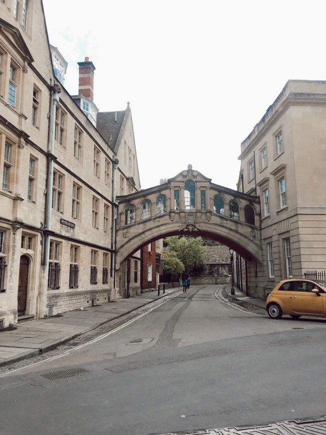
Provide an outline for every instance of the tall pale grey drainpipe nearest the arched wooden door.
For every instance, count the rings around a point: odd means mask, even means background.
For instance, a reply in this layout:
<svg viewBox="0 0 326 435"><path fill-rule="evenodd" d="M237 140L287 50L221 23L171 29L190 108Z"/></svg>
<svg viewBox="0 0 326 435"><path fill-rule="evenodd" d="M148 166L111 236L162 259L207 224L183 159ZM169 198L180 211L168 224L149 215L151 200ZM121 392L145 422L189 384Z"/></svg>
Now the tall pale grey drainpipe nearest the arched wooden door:
<svg viewBox="0 0 326 435"><path fill-rule="evenodd" d="M51 80L52 84L52 80ZM48 275L48 256L50 251L50 234L51 229L51 206L52 206L52 180L53 180L53 160L54 160L54 131L55 131L55 108L59 101L61 88L58 84L51 85L50 90L50 107L49 107L49 133L47 142L47 171L46 171L46 189L45 189L45 213L44 213L44 246L42 265L44 271L44 292L42 306L43 317L46 315L46 296L47 296L47 275Z"/></svg>

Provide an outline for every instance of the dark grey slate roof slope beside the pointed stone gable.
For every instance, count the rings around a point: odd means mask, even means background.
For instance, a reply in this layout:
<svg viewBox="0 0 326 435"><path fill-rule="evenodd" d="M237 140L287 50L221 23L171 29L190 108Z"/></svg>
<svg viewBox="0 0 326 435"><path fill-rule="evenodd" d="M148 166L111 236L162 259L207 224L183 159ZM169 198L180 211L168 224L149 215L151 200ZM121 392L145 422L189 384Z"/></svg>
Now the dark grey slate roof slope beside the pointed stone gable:
<svg viewBox="0 0 326 435"><path fill-rule="evenodd" d="M119 110L114 112L98 112L96 117L96 129L103 137L105 142L111 149L114 150L116 140L118 138L122 122L126 110ZM116 113L116 121L115 121Z"/></svg>

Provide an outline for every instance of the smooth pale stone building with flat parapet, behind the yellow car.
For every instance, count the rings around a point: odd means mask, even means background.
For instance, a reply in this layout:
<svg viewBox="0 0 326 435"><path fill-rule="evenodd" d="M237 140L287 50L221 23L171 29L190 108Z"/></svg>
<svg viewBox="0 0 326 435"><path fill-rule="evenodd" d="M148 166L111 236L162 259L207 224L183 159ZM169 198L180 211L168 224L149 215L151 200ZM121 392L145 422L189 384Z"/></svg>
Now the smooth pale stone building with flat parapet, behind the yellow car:
<svg viewBox="0 0 326 435"><path fill-rule="evenodd" d="M261 207L262 263L247 263L250 294L326 268L325 120L326 81L288 80L241 143L237 189Z"/></svg>

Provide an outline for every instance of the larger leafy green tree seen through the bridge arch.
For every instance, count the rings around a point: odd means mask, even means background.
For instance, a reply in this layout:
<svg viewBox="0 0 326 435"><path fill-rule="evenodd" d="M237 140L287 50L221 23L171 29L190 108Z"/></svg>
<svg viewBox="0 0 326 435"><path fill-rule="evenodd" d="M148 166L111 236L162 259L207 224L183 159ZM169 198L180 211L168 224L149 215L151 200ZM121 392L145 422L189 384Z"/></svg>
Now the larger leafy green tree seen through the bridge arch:
<svg viewBox="0 0 326 435"><path fill-rule="evenodd" d="M204 264L201 237L172 237L165 238L167 251L175 252L176 257L184 266L184 273L188 275L192 269L201 267Z"/></svg>

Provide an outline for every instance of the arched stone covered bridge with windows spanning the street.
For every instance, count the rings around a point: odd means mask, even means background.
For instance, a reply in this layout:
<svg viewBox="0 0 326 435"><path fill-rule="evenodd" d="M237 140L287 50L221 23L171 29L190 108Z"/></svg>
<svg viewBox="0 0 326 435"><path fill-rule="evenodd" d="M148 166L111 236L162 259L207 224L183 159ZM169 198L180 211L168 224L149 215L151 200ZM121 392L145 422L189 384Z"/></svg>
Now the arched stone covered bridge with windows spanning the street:
<svg viewBox="0 0 326 435"><path fill-rule="evenodd" d="M165 182L117 196L115 267L170 235L209 237L261 263L259 197L211 182L189 164Z"/></svg>

